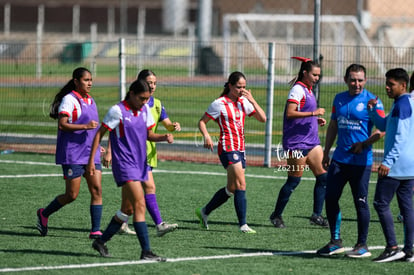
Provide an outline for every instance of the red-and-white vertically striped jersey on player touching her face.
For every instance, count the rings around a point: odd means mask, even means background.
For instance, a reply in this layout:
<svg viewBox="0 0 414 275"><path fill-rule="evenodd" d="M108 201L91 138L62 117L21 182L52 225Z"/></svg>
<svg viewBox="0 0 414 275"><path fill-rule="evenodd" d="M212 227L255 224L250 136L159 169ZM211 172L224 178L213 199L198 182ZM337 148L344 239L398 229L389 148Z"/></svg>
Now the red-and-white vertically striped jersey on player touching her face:
<svg viewBox="0 0 414 275"><path fill-rule="evenodd" d="M210 104L206 115L220 127L219 154L223 151L244 151L244 120L246 115L251 116L255 112L253 105L245 97L233 102L224 95Z"/></svg>

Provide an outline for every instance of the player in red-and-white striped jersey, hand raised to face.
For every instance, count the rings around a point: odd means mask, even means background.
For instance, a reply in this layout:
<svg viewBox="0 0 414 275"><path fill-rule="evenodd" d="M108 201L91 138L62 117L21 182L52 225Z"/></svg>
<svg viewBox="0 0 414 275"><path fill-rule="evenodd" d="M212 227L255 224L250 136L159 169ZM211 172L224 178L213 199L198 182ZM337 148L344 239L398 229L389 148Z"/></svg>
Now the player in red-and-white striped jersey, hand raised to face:
<svg viewBox="0 0 414 275"><path fill-rule="evenodd" d="M206 124L211 119L220 127L218 155L227 170L227 186L221 188L209 203L196 209L196 215L201 227L208 229L208 215L220 207L234 195L239 228L243 233L256 233L246 222L246 181L244 170L245 159L245 117L253 116L260 122L266 121L266 114L253 98L250 90L246 89L246 77L241 72L230 74L220 97L211 103L207 112L201 117L198 126L204 137L204 148L213 151L213 141L207 131Z"/></svg>

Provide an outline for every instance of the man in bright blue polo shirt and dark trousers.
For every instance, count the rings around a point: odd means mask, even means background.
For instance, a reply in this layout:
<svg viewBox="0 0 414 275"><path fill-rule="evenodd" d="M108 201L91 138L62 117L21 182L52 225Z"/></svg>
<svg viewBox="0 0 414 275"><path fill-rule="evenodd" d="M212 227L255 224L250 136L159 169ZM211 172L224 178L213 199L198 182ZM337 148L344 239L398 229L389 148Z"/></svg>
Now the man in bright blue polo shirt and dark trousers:
<svg viewBox="0 0 414 275"><path fill-rule="evenodd" d="M346 255L362 258L371 256L366 244L370 222L368 184L372 166L371 145L383 134L378 130L372 133L374 125L368 115L367 103L376 97L364 89L367 81L365 67L359 64L348 66L344 81L348 91L337 94L333 101L323 158L323 164L329 165L325 205L331 240L317 253L331 256L344 252L339 199L345 184L349 182L357 212L358 239L354 248ZM380 100L377 112L384 117L384 107ZM337 146L330 162L329 151L336 137Z"/></svg>

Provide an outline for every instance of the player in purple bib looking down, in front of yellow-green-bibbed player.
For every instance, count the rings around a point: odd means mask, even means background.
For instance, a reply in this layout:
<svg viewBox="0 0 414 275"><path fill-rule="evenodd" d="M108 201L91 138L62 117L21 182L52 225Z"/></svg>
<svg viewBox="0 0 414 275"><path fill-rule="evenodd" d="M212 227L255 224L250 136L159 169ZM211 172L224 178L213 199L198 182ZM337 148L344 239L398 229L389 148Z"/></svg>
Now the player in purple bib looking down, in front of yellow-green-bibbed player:
<svg viewBox="0 0 414 275"><path fill-rule="evenodd" d="M145 198L142 183L148 180L146 141L167 141L172 143L172 134L155 134L155 126L150 108L146 104L150 98L148 84L136 80L129 88L124 101L112 106L96 133L88 164L91 175L96 172L93 156L105 133L110 131L112 151L112 173L116 184L122 188L122 203L112 218L102 237L93 242L92 247L102 256L110 257L106 242L115 235L128 220L126 211L133 209L133 225L141 245L141 259L165 261L151 251L147 224L145 222Z"/></svg>

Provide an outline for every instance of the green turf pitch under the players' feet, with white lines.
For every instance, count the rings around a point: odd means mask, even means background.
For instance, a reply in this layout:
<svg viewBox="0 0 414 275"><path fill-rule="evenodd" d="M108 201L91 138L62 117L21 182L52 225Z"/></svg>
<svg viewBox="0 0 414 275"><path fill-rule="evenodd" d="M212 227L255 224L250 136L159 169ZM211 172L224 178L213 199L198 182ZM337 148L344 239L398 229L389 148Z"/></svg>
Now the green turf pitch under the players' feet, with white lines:
<svg viewBox="0 0 414 275"><path fill-rule="evenodd" d="M383 250L385 240L372 207L376 174L371 177L369 201L371 225L368 237L373 257L321 258L315 251L329 240L329 230L309 224L314 180L307 173L292 195L284 220L287 228L274 228L268 217L273 210L285 174L275 168L246 170L249 225L257 234L238 232L232 200L209 217L210 230L199 227L194 209L208 202L225 185L220 165L160 162L154 172L157 197L164 220L179 228L156 237L149 216L147 222L155 253L166 263L139 260L135 236L116 235L108 242L112 258L103 258L91 248L89 193L82 182L78 199L49 219L49 234L40 237L36 210L64 190L61 168L54 156L14 153L0 156L0 272L10 274L410 274L412 264L378 264L371 261ZM102 229L120 207L120 189L109 169L103 176L104 211ZM341 199L342 239L350 249L356 241L356 214L349 187ZM396 202L392 204L398 214ZM403 242L402 224L396 223L398 241Z"/></svg>

